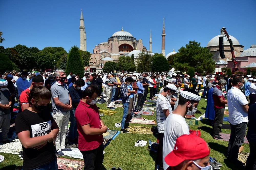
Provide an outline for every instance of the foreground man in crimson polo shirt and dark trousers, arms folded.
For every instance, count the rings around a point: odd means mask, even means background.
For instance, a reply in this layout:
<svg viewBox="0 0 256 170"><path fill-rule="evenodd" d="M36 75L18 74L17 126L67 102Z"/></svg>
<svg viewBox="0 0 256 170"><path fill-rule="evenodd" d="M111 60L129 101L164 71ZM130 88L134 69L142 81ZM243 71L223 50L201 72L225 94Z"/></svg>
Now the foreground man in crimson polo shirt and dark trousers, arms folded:
<svg viewBox="0 0 256 170"><path fill-rule="evenodd" d="M103 135L108 128L100 119L98 107L98 87L88 86L83 91L75 112L78 130L78 149L83 154L84 169L100 170L103 162Z"/></svg>

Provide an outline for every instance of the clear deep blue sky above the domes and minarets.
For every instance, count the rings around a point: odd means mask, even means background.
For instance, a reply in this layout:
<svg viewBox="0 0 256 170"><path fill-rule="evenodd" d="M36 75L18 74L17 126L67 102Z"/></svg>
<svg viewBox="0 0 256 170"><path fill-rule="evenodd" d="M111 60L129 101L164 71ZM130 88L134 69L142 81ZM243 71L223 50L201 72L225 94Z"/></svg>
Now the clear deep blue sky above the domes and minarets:
<svg viewBox="0 0 256 170"><path fill-rule="evenodd" d="M81 9L87 36L87 51L107 41L123 29L142 39L149 50L152 30L152 52L161 52L161 34L165 18L165 53L177 51L189 41L206 47L211 38L226 27L244 50L256 44L256 1L0 1L2 46L63 47L80 44Z"/></svg>

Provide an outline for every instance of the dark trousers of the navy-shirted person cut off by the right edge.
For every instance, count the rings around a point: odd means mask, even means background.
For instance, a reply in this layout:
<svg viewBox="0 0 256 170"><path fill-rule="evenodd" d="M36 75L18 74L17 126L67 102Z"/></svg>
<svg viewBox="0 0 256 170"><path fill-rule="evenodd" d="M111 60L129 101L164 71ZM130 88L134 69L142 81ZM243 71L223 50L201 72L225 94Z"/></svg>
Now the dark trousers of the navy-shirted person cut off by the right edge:
<svg viewBox="0 0 256 170"><path fill-rule="evenodd" d="M256 170L256 143L250 142L250 154L246 160L245 169Z"/></svg>

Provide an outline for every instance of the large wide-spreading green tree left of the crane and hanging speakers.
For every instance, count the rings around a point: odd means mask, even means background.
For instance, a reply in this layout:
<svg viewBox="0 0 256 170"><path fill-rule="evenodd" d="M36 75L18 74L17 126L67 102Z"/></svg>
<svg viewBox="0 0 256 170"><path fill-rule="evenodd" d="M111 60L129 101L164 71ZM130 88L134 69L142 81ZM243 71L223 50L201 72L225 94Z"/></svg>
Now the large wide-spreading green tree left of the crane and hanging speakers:
<svg viewBox="0 0 256 170"><path fill-rule="evenodd" d="M215 65L210 49L200 46L200 42L189 41L186 47L181 47L173 59L174 68L180 72L186 72L194 67L198 73L214 72Z"/></svg>

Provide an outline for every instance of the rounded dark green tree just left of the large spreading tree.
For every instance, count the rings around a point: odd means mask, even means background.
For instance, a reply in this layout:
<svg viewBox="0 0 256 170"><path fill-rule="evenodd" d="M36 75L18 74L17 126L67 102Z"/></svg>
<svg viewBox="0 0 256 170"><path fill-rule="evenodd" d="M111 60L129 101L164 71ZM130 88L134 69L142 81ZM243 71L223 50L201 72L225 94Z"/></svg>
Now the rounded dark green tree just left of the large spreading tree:
<svg viewBox="0 0 256 170"><path fill-rule="evenodd" d="M170 69L169 63L162 54L155 53L153 55L152 71L165 72Z"/></svg>

